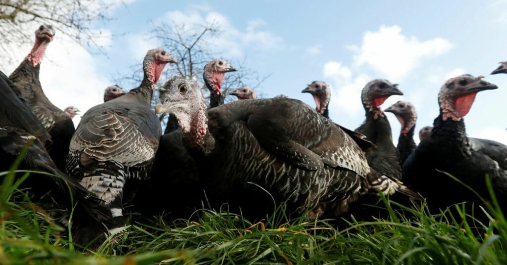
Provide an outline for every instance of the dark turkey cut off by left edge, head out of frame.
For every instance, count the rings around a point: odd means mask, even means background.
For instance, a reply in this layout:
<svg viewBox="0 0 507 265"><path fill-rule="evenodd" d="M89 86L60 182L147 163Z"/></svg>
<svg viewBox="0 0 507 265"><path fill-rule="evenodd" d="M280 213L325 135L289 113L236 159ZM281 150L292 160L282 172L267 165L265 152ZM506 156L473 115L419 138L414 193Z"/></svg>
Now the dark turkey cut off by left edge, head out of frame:
<svg viewBox="0 0 507 265"><path fill-rule="evenodd" d="M10 170L18 155L26 154L17 169L45 172L31 175L21 187L30 187L29 194L35 199L47 199L46 202L58 209L72 209L71 198L77 202L74 209L73 231L80 225L98 222L105 213L95 205L100 200L90 194L79 182L61 172L51 160L44 142L51 136L33 115L30 107L13 89L14 84L0 72L0 171ZM23 173L21 173L23 174Z"/></svg>

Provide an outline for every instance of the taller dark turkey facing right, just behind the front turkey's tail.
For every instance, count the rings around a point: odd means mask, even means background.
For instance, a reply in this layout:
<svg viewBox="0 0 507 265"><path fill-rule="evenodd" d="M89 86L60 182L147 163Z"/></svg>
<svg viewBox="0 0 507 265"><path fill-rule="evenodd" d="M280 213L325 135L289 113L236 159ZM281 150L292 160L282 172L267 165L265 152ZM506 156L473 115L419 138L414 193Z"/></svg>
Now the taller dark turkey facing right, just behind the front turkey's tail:
<svg viewBox="0 0 507 265"><path fill-rule="evenodd" d="M402 167L398 150L392 143L391 126L380 105L390 96L403 95L397 86L383 79L375 79L366 84L361 92L366 120L355 129L356 132L366 135L366 139L376 145L373 152L366 155L368 164L392 179L402 178Z"/></svg>

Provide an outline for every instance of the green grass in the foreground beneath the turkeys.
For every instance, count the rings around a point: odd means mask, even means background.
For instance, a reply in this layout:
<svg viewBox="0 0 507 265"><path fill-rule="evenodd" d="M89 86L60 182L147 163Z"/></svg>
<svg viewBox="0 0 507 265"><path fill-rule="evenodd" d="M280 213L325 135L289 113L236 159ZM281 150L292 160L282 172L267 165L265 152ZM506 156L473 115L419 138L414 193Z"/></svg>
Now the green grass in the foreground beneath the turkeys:
<svg viewBox="0 0 507 265"><path fill-rule="evenodd" d="M171 222L131 214L118 242L82 253L17 190L23 178L0 175L1 264L507 264L507 222L494 200L483 209L488 223L463 205L431 215L385 198L386 216L372 221L289 219L284 205L256 223L226 209Z"/></svg>

